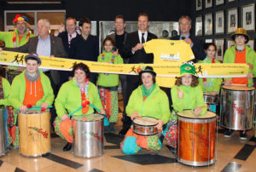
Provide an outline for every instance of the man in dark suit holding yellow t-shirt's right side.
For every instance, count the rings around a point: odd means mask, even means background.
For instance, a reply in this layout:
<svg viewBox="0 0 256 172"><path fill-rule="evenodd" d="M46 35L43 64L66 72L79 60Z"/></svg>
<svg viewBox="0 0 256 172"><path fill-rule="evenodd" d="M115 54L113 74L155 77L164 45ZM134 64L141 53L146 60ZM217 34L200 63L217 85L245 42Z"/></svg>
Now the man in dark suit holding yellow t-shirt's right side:
<svg viewBox="0 0 256 172"><path fill-rule="evenodd" d="M206 53L203 49L203 42L190 35L191 29L191 19L188 15L183 15L178 20L179 32L180 35L171 37L172 40L184 40L186 43L189 43L191 49L195 55L195 60L204 60L206 58Z"/></svg>

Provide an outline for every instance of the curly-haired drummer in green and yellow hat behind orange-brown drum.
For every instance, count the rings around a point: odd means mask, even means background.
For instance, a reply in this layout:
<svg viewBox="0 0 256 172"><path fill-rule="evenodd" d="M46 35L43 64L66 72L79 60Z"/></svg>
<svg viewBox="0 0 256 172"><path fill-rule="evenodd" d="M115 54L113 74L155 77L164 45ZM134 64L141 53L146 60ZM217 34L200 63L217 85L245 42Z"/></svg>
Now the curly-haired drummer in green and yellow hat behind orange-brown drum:
<svg viewBox="0 0 256 172"><path fill-rule="evenodd" d="M172 87L172 117L164 131L168 145L172 146L172 152L177 146L176 112L183 112L186 109L191 109L195 115L204 115L207 112L203 91L198 83L193 62L183 63L180 67L180 76L177 77L175 86Z"/></svg>

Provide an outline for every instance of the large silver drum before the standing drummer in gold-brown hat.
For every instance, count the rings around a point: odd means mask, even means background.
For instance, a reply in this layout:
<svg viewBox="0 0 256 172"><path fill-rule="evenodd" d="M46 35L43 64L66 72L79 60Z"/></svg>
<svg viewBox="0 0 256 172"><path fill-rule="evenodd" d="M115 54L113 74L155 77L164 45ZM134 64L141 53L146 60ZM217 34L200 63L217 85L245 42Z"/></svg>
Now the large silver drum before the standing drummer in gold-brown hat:
<svg viewBox="0 0 256 172"><path fill-rule="evenodd" d="M254 88L223 86L221 89L221 126L227 129L253 129Z"/></svg>

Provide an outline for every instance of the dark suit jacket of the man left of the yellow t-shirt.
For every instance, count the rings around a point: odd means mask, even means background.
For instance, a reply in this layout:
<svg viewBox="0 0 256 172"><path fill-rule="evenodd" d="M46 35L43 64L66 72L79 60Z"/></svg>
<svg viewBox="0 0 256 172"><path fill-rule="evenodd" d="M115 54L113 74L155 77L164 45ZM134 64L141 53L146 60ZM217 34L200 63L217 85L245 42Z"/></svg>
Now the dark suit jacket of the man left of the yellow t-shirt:
<svg viewBox="0 0 256 172"><path fill-rule="evenodd" d="M151 39L157 39L157 37L148 32L147 41ZM127 43L125 45L126 54L128 54L129 63L137 64L137 63L153 63L154 62L154 54L146 54L144 49L138 49L134 54L132 54L131 49L140 43L140 39L138 36L138 32L131 32L128 34Z"/></svg>

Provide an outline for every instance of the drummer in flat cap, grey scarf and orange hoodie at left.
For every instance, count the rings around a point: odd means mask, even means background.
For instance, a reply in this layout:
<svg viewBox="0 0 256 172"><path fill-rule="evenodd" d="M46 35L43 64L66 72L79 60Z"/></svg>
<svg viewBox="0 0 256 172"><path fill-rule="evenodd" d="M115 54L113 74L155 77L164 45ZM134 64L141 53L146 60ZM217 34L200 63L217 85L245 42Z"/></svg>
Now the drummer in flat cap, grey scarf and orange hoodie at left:
<svg viewBox="0 0 256 172"><path fill-rule="evenodd" d="M15 109L20 109L20 112L26 112L27 106L42 106L46 109L53 103L55 96L49 78L38 69L41 59L38 54L28 54L25 61L26 70L15 77L11 85L9 104ZM15 114L15 123L16 116ZM13 145L18 146L19 131L15 126L11 129L11 136Z"/></svg>

